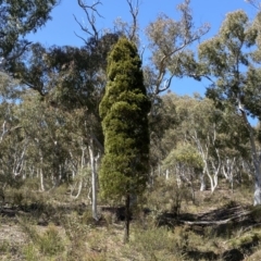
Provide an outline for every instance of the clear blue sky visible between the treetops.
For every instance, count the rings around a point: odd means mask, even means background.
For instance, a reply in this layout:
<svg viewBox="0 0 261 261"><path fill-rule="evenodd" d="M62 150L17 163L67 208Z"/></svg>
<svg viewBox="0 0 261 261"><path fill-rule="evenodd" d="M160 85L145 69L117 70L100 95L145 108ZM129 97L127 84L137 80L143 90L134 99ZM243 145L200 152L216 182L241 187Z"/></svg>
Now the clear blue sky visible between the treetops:
<svg viewBox="0 0 261 261"><path fill-rule="evenodd" d="M86 0L86 2L90 4L94 0ZM122 17L126 22L130 21L126 0L101 0L101 2L102 5L99 5L98 9L103 17L97 18L98 28L112 28L113 21L117 17ZM138 18L141 30L150 22L153 22L160 13L165 13L170 17L177 20L176 5L181 2L177 0L140 0ZM217 33L227 12L243 9L249 14L249 17L253 17L257 13L257 10L244 0L191 0L190 7L196 26L206 22L211 25L210 32L203 39L210 38ZM85 14L77 5L77 0L61 0L61 3L51 13L52 20L36 34L29 35L29 40L39 41L47 47L52 45L83 46L83 40L76 37L75 33L84 37L85 35L80 32L73 15L78 21L87 23ZM142 35L141 41L146 44L146 38ZM203 95L206 85L206 82L199 83L194 79L183 78L174 79L171 89L178 95L191 95L192 92Z"/></svg>

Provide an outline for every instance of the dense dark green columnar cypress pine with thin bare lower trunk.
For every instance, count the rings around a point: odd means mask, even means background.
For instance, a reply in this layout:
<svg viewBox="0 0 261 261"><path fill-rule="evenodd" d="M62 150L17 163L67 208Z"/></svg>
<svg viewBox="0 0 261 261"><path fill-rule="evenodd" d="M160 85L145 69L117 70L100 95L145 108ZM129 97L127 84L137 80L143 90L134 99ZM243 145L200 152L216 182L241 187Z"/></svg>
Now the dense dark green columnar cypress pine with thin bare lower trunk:
<svg viewBox="0 0 261 261"><path fill-rule="evenodd" d="M149 160L148 112L150 101L144 85L136 46L121 38L108 58L105 95L100 103L104 157L100 185L105 198L125 199L125 235L129 231L129 196L146 188Z"/></svg>

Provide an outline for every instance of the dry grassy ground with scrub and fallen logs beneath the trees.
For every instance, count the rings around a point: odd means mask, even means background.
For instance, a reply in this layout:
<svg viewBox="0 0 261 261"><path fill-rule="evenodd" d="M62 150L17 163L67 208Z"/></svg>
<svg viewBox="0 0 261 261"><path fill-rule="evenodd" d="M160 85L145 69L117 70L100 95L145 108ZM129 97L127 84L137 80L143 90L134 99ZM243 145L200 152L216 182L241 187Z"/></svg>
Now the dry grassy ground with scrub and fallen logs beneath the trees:
<svg viewBox="0 0 261 261"><path fill-rule="evenodd" d="M124 245L123 222L108 210L95 222L84 195L10 188L0 210L0 260L261 260L261 208L251 207L249 189L197 191L195 202L183 195L178 215L173 195L146 196L147 211L134 212Z"/></svg>

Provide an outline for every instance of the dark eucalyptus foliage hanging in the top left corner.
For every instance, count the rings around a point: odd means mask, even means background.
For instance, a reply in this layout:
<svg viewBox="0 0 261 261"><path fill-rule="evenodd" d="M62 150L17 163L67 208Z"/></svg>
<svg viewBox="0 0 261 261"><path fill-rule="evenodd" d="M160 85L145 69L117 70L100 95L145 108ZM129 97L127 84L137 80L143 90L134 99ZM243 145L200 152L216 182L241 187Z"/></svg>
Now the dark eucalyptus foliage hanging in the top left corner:
<svg viewBox="0 0 261 261"><path fill-rule="evenodd" d="M11 70L14 62L30 45L26 39L50 20L58 0L1 0L0 1L0 59L1 66Z"/></svg>

